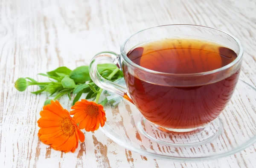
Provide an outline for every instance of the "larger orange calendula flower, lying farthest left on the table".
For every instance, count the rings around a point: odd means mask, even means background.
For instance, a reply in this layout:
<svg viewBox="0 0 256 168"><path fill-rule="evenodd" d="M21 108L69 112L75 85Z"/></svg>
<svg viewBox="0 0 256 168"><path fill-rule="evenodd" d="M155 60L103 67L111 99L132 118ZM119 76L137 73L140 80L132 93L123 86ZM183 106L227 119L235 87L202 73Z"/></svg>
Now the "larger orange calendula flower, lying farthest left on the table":
<svg viewBox="0 0 256 168"><path fill-rule="evenodd" d="M57 100L44 106L40 116L38 127L41 128L38 137L53 149L75 152L78 141L84 142L84 133Z"/></svg>

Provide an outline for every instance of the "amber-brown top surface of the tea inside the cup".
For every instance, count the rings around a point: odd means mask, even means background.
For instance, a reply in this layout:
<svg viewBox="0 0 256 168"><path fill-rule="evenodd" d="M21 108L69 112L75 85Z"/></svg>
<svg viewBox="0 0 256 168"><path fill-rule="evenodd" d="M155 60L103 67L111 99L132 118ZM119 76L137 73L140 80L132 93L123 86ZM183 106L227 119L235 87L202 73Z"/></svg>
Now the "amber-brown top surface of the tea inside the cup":
<svg viewBox="0 0 256 168"><path fill-rule="evenodd" d="M236 53L218 44L199 40L163 40L146 43L128 53L134 63L166 73L197 73L230 64Z"/></svg>

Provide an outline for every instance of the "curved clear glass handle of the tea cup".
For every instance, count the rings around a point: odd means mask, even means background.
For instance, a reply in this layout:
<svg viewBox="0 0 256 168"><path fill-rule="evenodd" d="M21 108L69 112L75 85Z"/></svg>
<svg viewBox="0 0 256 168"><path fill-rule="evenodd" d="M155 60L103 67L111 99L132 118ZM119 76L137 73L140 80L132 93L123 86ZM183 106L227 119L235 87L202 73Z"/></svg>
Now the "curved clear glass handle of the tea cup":
<svg viewBox="0 0 256 168"><path fill-rule="evenodd" d="M131 103L134 103L131 98L129 98L127 94L127 89L125 87L122 87L112 81L109 81L105 78L103 78L98 70L97 65L101 62L110 61L113 62L119 70L122 71L122 63L120 61L120 55L118 55L115 52L111 51L105 51L105 52L99 52L97 55L93 57L91 60L90 66L89 66L89 73L92 81L100 88L104 90L108 90L109 92L115 93L119 96L122 96L126 100L130 101Z"/></svg>

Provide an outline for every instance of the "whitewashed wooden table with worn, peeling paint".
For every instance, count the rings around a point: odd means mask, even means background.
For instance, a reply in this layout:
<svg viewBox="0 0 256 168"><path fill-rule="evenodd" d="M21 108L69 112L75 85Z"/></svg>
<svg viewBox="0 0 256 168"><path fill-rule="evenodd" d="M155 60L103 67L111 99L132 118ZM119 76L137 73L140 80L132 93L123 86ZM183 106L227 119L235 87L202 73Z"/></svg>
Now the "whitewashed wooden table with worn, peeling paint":
<svg viewBox="0 0 256 168"><path fill-rule="evenodd" d="M255 0L0 0L0 168L256 166L255 145L211 162L179 163L128 151L101 131L85 133L75 153L54 151L38 141L36 122L47 95L31 94L36 87L18 92L17 78L45 80L36 74L89 64L97 52L119 52L122 42L141 29L178 23L239 38L244 46L241 78L256 85ZM70 103L64 107L70 109Z"/></svg>

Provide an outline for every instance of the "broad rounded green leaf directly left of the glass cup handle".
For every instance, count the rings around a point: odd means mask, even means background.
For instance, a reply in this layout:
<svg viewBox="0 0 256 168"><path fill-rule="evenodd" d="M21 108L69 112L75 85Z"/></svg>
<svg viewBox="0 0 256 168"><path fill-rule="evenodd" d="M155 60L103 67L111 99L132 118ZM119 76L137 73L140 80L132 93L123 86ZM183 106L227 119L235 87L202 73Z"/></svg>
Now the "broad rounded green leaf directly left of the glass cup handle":
<svg viewBox="0 0 256 168"><path fill-rule="evenodd" d="M77 67L70 73L70 78L73 79L76 83L83 84L86 81L90 81L89 75L89 66Z"/></svg>

